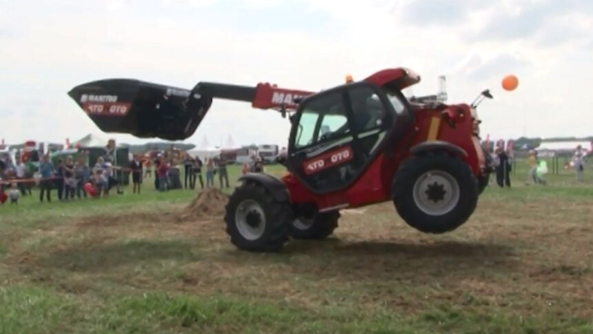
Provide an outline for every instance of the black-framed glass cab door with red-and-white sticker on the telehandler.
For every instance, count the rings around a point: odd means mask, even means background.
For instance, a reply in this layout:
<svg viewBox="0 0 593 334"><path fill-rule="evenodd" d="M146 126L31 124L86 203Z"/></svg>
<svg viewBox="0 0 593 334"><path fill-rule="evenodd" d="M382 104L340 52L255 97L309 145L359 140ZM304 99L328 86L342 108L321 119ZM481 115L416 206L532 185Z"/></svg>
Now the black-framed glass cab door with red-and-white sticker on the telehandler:
<svg viewBox="0 0 593 334"><path fill-rule="evenodd" d="M394 119L388 97L370 83L312 95L292 119L288 168L316 194L349 188L381 151Z"/></svg>

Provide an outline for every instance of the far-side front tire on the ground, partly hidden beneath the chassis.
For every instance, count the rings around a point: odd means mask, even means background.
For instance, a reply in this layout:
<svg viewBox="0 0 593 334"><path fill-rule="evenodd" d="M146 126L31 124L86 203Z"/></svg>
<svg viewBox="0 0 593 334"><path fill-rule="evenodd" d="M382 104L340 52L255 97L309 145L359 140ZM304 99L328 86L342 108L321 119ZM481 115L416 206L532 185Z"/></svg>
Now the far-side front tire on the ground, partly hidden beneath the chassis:
<svg viewBox="0 0 593 334"><path fill-rule="evenodd" d="M314 213L311 217L297 217L290 224L290 236L303 240L325 239L334 233L339 219L339 211Z"/></svg>

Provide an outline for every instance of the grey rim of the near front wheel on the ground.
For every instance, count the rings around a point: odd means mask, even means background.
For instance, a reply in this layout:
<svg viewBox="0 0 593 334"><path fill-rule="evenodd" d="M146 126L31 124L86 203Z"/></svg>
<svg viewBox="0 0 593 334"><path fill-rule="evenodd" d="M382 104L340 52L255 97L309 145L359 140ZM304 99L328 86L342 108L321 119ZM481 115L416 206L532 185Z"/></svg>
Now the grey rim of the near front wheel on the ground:
<svg viewBox="0 0 593 334"><path fill-rule="evenodd" d="M245 199L239 203L235 210L234 222L237 225L237 230L245 239L258 239L265 230L263 208L253 199Z"/></svg>

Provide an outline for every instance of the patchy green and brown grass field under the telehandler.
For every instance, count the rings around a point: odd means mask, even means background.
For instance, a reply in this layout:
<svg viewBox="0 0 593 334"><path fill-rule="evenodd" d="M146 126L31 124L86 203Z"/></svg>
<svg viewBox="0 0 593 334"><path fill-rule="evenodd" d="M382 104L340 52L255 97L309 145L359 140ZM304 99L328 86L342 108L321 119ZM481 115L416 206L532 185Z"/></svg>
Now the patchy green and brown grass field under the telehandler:
<svg viewBox="0 0 593 334"><path fill-rule="evenodd" d="M34 193L0 206L0 333L593 333L586 172L525 186L520 164L445 235L386 203L277 254L236 250L221 220L179 219L190 190Z"/></svg>

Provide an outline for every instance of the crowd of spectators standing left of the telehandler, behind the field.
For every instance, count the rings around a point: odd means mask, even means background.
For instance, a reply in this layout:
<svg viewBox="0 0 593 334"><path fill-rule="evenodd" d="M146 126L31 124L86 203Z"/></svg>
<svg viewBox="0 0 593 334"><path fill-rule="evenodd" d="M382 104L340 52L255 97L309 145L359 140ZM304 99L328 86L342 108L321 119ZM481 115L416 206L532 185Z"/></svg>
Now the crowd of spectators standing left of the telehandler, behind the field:
<svg viewBox="0 0 593 334"><path fill-rule="evenodd" d="M94 164L88 163L88 155L82 153L76 158L68 155L57 159L55 164L49 155L43 155L39 166L33 172L23 162L12 166L6 161L0 165L0 193L10 202L18 204L21 196L32 195L32 188L39 187L39 201L52 202L52 191L61 202L85 199L87 197L109 197L113 188L121 194L121 175L128 172L132 179L132 193L140 194L143 179L154 176L154 187L159 191L175 188L194 190L199 181L200 188L212 188L218 179L220 188L230 188L228 161L223 156L199 157L183 155L180 161L175 155L165 152L154 159L134 155L128 167L114 166L112 155L97 158ZM183 166L184 183L179 179L179 168ZM205 170L205 182L202 171ZM263 172L263 159L253 157L249 164L243 164L243 174ZM179 183L179 184L178 184ZM6 200L6 199L5 199Z"/></svg>

